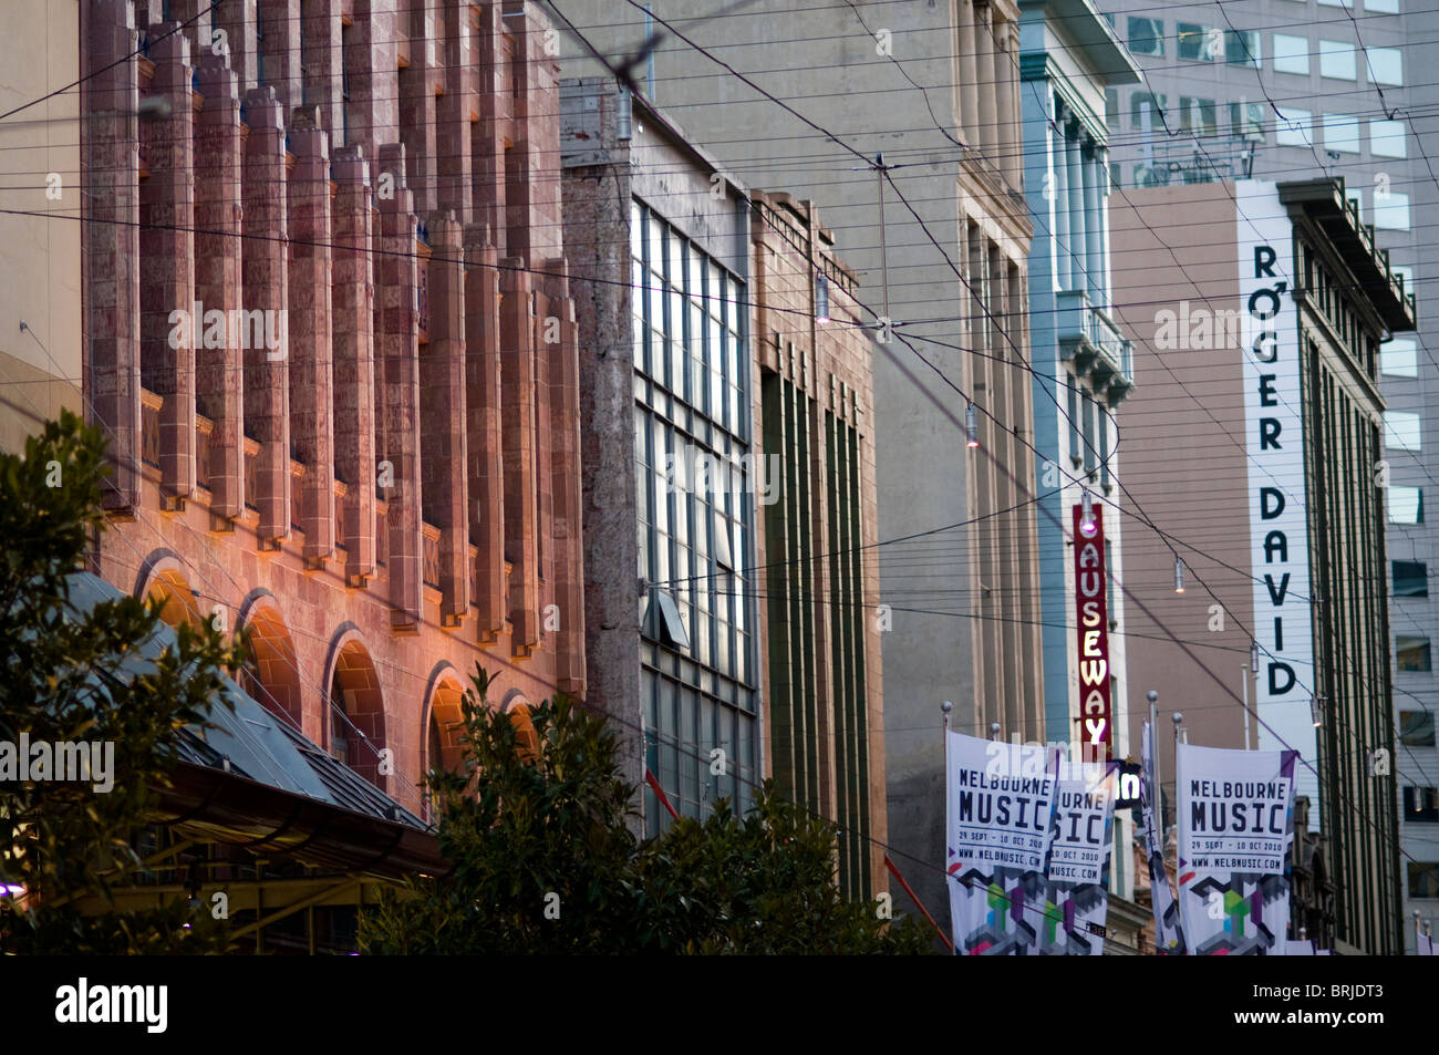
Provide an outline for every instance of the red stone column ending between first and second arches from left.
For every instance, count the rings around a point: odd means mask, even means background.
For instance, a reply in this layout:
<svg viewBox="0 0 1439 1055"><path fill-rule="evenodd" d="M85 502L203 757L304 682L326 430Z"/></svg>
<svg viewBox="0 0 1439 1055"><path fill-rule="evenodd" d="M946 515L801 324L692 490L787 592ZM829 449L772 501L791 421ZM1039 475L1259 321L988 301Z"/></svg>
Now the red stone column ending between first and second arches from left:
<svg viewBox="0 0 1439 1055"><path fill-rule="evenodd" d="M240 271L240 79L217 55L200 63L204 108L194 128L194 296L230 318L243 301ZM194 351L196 410L210 419L210 512L245 514L245 357L226 327L219 348Z"/></svg>

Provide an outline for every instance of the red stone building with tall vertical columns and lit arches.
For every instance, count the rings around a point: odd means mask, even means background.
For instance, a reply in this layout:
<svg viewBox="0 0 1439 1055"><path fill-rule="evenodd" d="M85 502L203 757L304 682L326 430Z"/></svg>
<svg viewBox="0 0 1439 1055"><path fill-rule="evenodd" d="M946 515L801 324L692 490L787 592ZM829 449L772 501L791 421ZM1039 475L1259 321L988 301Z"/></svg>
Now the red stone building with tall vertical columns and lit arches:
<svg viewBox="0 0 1439 1055"><path fill-rule="evenodd" d="M101 576L420 812L476 661L584 691L553 33L524 0L82 0ZM168 17L170 22L161 22Z"/></svg>

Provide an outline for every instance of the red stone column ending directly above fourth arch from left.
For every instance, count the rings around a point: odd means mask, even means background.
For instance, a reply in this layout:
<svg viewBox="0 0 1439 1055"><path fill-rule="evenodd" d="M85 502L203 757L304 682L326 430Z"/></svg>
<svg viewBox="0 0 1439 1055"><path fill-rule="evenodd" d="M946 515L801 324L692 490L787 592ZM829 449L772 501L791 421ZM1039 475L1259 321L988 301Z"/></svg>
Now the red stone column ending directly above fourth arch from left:
<svg viewBox="0 0 1439 1055"><path fill-rule="evenodd" d="M430 217L430 340L420 353L425 520L440 530L440 622L469 612L465 436L465 245L453 213Z"/></svg>

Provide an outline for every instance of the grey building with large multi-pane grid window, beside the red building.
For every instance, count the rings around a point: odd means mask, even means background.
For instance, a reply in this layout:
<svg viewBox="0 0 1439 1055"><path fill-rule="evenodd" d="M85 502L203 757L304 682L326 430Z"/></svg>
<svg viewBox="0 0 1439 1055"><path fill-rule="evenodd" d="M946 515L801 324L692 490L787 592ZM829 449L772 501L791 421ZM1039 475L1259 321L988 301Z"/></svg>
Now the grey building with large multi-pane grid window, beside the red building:
<svg viewBox="0 0 1439 1055"><path fill-rule="evenodd" d="M589 699L614 720L653 836L669 810L745 809L764 757L755 497L780 481L751 420L750 209L613 78L566 78L558 105Z"/></svg>

